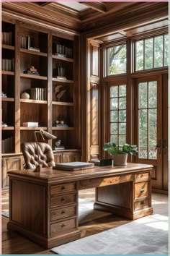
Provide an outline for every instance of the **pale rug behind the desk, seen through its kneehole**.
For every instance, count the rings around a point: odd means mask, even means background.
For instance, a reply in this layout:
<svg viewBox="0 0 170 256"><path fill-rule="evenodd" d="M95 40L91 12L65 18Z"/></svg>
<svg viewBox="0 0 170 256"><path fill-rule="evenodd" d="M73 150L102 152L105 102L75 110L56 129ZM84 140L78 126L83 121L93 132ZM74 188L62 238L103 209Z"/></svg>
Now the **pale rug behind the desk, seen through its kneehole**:
<svg viewBox="0 0 170 256"><path fill-rule="evenodd" d="M79 225L111 214L101 210L94 210L93 205L94 202L79 198ZM1 215L9 218L8 211L1 213Z"/></svg>

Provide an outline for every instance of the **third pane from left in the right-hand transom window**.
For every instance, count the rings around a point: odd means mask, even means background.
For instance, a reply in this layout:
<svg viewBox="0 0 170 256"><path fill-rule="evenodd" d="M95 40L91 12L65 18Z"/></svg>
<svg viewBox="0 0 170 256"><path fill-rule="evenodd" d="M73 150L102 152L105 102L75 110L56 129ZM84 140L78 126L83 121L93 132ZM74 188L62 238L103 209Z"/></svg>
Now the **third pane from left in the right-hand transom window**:
<svg viewBox="0 0 170 256"><path fill-rule="evenodd" d="M163 67L163 35L154 40L154 67Z"/></svg>

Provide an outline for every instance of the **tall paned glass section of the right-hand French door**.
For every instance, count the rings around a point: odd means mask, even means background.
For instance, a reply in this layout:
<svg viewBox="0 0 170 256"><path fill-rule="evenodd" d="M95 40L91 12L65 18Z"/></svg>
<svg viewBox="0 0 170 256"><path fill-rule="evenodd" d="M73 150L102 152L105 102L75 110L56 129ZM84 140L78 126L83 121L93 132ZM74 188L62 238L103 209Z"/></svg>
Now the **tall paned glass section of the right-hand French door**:
<svg viewBox="0 0 170 256"><path fill-rule="evenodd" d="M138 85L138 158L157 158L157 82Z"/></svg>

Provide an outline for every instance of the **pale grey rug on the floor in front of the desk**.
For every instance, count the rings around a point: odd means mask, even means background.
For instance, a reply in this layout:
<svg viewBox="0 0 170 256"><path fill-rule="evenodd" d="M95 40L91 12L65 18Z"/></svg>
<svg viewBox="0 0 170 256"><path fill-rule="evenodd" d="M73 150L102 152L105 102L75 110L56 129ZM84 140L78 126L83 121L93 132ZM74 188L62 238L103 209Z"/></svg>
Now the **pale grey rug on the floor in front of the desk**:
<svg viewBox="0 0 170 256"><path fill-rule="evenodd" d="M168 217L154 214L51 250L59 255L168 255Z"/></svg>

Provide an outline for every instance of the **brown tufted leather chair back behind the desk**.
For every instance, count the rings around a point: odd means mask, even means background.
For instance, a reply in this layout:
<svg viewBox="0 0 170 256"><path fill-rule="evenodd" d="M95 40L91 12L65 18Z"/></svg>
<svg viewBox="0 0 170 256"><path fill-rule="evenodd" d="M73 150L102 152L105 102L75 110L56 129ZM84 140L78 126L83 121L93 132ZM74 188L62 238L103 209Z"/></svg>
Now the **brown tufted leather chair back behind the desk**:
<svg viewBox="0 0 170 256"><path fill-rule="evenodd" d="M24 155L25 168L32 169L38 165L37 143L23 142L21 145ZM38 152L40 158L40 166L55 166L53 150L47 143L38 142Z"/></svg>

